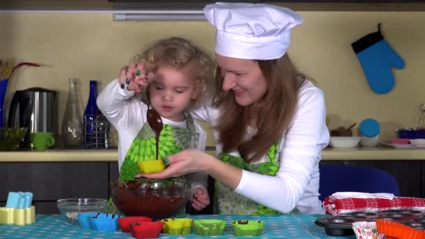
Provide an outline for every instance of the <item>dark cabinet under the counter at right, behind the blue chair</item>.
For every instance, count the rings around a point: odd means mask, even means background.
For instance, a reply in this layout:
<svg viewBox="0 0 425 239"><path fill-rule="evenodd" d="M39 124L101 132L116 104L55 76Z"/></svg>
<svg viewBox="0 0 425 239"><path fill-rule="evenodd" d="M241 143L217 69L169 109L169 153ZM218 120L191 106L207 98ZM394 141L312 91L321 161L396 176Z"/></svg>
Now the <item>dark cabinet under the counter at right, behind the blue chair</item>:
<svg viewBox="0 0 425 239"><path fill-rule="evenodd" d="M320 164L345 164L379 168L396 178L400 196L425 197L425 161L322 161Z"/></svg>

